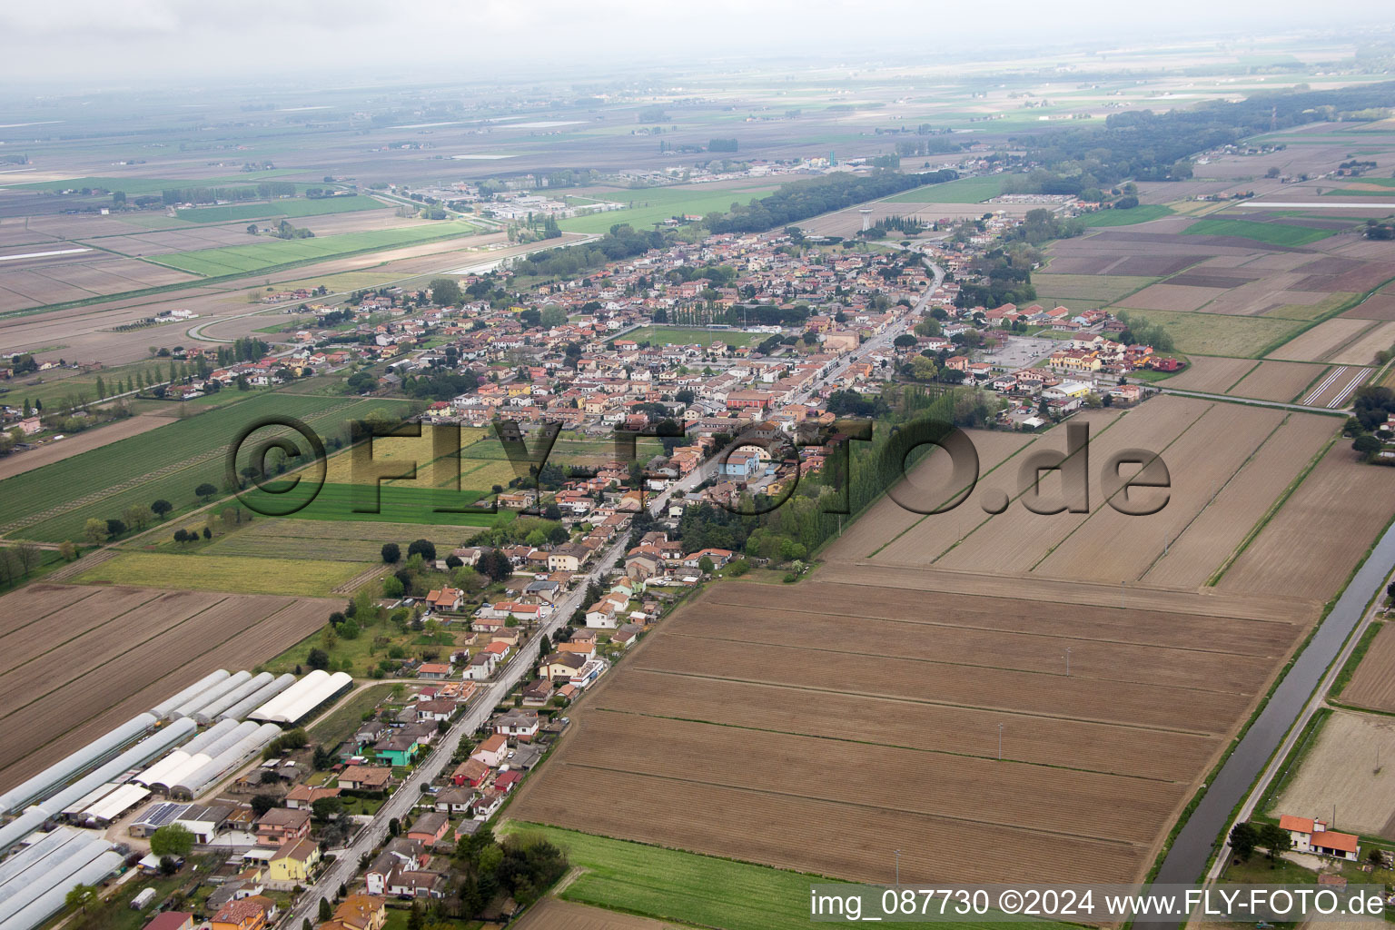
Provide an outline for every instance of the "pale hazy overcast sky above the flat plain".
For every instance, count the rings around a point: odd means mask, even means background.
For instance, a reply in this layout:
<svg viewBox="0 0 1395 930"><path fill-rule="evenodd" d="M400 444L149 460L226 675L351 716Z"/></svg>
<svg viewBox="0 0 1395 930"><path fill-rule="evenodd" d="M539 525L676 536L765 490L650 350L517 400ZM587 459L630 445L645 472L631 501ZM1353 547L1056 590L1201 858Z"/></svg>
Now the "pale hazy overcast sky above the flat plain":
<svg viewBox="0 0 1395 930"><path fill-rule="evenodd" d="M10 92L71 81L329 71L488 77L615 63L801 54L845 60L992 45L1388 24L1389 0L67 0L0 3Z"/></svg>

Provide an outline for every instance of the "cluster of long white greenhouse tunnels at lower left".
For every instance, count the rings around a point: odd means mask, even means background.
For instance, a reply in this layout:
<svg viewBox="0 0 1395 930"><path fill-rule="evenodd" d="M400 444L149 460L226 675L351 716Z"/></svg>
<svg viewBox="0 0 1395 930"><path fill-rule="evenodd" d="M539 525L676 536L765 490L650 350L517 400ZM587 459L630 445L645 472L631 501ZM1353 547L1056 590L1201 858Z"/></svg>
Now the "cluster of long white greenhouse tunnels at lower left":
<svg viewBox="0 0 1395 930"><path fill-rule="evenodd" d="M120 871L126 855L99 831L146 800L131 835L180 823L211 841L232 809L177 802L218 788L352 683L219 669L0 795L0 926L39 927L73 888Z"/></svg>

